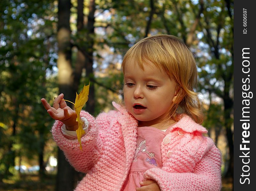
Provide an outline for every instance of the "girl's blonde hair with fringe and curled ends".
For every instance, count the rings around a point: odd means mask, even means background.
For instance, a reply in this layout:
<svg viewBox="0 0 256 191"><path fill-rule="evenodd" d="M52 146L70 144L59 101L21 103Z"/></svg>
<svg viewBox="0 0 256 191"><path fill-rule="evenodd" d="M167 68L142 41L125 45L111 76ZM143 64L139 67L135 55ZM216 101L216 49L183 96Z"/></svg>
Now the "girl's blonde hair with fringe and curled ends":
<svg viewBox="0 0 256 191"><path fill-rule="evenodd" d="M195 122L203 122L203 111L198 93L196 60L190 49L172 35L154 35L144 38L132 46L124 55L124 67L135 60L144 70L144 65L156 66L167 73L176 83L176 99L170 105L168 118L179 121L181 113Z"/></svg>

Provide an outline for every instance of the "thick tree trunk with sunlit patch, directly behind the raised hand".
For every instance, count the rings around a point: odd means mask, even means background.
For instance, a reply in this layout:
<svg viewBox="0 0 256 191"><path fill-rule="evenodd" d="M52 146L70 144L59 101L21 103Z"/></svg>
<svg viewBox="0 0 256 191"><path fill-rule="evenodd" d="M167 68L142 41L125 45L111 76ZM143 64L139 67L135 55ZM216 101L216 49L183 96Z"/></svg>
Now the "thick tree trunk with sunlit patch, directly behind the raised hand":
<svg viewBox="0 0 256 191"><path fill-rule="evenodd" d="M70 43L70 0L58 1L58 85L59 92L65 99L74 102L73 95L73 70L71 66ZM69 104L69 103L68 103ZM63 152L58 149L57 191L70 191L74 189L74 168L67 162Z"/></svg>

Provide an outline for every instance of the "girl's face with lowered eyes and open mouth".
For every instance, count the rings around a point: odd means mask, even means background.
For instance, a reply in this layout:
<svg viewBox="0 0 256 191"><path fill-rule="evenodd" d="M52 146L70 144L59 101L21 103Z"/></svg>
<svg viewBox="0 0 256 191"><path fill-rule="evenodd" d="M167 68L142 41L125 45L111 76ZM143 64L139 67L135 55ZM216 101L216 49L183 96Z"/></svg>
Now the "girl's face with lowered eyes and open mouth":
<svg viewBox="0 0 256 191"><path fill-rule="evenodd" d="M164 120L176 96L176 84L155 66L129 61L124 67L124 102L139 126L158 125Z"/></svg>

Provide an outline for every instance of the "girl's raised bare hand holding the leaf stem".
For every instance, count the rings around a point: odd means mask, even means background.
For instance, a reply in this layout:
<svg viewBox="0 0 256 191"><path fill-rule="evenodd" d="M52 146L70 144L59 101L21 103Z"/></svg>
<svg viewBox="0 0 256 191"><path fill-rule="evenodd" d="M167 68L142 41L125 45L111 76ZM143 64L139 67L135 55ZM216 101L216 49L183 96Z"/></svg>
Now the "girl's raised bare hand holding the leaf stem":
<svg viewBox="0 0 256 191"><path fill-rule="evenodd" d="M75 131L78 129L78 122L76 122L76 113L67 106L63 100L64 94L58 95L53 102L53 107L44 99L41 99L44 108L49 113L50 117L59 120L66 125L67 130Z"/></svg>

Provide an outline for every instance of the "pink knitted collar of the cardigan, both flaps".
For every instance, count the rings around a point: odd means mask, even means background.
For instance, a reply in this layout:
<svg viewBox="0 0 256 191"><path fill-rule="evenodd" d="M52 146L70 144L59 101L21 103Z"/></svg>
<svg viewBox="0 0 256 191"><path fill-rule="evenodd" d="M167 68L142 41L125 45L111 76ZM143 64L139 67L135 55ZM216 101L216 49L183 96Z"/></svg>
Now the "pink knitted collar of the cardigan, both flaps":
<svg viewBox="0 0 256 191"><path fill-rule="evenodd" d="M128 112L128 110L126 109L125 106L121 106L121 105L119 105L115 102L112 102L112 104L122 114L132 116ZM186 132L189 132L189 133L192 133L194 131L198 131L198 132L201 132L201 133L207 133L208 132L205 127L196 123L191 117L189 117L186 114L182 114L181 119L177 123L175 123L171 128L169 128L167 131L168 132L173 131L175 128L180 128L183 131L186 131Z"/></svg>

